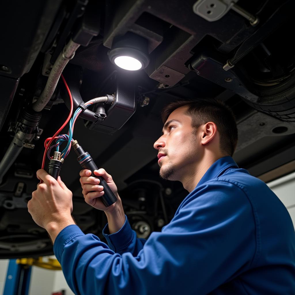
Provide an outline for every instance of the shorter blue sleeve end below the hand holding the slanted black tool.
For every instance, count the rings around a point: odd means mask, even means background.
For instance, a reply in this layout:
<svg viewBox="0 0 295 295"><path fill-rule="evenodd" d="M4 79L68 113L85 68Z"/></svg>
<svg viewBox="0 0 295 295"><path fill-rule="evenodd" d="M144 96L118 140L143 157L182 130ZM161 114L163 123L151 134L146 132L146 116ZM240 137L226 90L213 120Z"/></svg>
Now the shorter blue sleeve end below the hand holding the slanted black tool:
<svg viewBox="0 0 295 295"><path fill-rule="evenodd" d="M130 252L133 256L137 256L138 252L143 248L143 245L146 242L145 239L136 237L136 232L131 229L126 215L125 223L118 232L109 234L107 223L102 230L102 234L106 238L109 248L119 254Z"/></svg>

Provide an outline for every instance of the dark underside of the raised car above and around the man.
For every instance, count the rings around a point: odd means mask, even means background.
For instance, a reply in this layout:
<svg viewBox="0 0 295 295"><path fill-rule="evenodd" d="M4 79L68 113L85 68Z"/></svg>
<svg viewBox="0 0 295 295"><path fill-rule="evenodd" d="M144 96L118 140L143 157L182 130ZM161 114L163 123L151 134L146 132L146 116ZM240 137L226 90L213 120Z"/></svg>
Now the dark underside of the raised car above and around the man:
<svg viewBox="0 0 295 295"><path fill-rule="evenodd" d="M161 110L171 101L224 101L237 120L233 158L240 167L266 182L295 170L294 1L32 0L2 6L0 258L53 253L27 202L39 182L44 141L69 114L58 70L74 111L95 97L114 97L112 106L85 109L73 137L112 175L138 237L160 231L187 194L181 183L160 178L153 148ZM145 69L126 71L111 62L126 40L145 46ZM71 42L78 46L67 57ZM49 97L44 91L54 79ZM36 112L33 104L46 95ZM102 237L106 217L84 202L76 158L69 153L60 170L73 192L73 216L83 232Z"/></svg>

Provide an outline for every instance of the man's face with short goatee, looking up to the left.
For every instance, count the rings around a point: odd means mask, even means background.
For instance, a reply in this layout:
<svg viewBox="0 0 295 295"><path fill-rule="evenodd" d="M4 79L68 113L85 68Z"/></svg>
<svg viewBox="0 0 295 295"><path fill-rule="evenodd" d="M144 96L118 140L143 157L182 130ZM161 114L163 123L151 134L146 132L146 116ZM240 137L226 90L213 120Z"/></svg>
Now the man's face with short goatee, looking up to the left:
<svg viewBox="0 0 295 295"><path fill-rule="evenodd" d="M163 135L154 143L158 150L160 176L169 180L181 180L199 160L199 143L191 127L187 106L173 111L163 127Z"/></svg>

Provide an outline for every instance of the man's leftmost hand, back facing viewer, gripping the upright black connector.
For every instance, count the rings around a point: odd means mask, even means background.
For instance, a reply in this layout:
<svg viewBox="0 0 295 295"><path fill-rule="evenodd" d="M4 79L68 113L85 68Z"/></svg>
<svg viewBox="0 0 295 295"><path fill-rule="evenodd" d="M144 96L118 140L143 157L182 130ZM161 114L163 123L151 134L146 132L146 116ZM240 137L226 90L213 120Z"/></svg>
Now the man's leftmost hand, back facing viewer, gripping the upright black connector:
<svg viewBox="0 0 295 295"><path fill-rule="evenodd" d="M37 185L28 202L28 210L33 220L49 232L53 241L66 226L75 224L71 217L73 211L72 192L61 181L56 181L45 170L37 171L37 178L43 183Z"/></svg>

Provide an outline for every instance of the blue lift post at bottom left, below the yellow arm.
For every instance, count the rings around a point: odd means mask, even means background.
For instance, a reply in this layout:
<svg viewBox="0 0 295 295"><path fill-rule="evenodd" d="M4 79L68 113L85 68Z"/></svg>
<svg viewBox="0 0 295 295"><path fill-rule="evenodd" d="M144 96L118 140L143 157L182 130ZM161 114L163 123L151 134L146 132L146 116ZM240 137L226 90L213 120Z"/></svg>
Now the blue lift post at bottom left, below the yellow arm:
<svg viewBox="0 0 295 295"><path fill-rule="evenodd" d="M28 295L32 266L18 264L10 259L7 268L3 295Z"/></svg>

